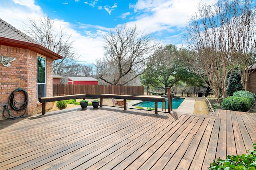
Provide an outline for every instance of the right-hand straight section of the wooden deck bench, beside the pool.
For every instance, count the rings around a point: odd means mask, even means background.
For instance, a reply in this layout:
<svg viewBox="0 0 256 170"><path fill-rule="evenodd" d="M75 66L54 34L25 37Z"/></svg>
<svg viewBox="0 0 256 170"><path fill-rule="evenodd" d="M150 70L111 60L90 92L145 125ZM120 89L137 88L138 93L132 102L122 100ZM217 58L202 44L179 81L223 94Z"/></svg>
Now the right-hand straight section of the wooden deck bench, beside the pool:
<svg viewBox="0 0 256 170"><path fill-rule="evenodd" d="M114 98L114 99L123 99L124 100L124 110L126 110L126 100L142 100L155 102L155 113L157 114L158 104L157 102L162 102L162 111L163 111L163 103L166 100L164 97L151 97L151 96L130 96L130 95L118 95L118 94L100 94L100 107L103 104L103 98Z"/></svg>

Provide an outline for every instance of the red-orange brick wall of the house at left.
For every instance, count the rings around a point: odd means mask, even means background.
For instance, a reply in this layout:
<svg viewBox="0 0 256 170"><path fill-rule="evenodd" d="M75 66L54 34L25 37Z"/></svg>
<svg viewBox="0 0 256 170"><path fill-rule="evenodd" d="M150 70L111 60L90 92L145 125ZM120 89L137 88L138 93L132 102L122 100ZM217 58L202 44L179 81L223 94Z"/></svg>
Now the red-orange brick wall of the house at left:
<svg viewBox="0 0 256 170"><path fill-rule="evenodd" d="M44 57L34 51L6 45L0 45L0 54L4 57L14 57L15 61L9 67L0 64L0 119L5 119L2 115L4 105L8 104L10 94L16 88L23 88L28 93L28 106L25 115L42 112L42 104L37 102L37 55ZM46 96L52 96L52 59L46 57ZM17 93L15 100L24 101L24 95ZM52 108L52 103L46 104L46 109ZM10 108L12 115L17 115L16 111ZM24 112L22 110L21 112Z"/></svg>

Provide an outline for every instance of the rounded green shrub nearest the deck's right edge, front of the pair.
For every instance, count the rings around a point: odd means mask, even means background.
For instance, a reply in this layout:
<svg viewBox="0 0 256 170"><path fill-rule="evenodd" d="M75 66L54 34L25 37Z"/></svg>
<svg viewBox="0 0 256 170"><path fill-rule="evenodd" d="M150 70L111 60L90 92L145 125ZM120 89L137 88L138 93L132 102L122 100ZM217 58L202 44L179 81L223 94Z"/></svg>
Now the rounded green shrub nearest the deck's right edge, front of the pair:
<svg viewBox="0 0 256 170"><path fill-rule="evenodd" d="M230 96L222 101L221 108L235 111L248 111L251 102L248 98Z"/></svg>

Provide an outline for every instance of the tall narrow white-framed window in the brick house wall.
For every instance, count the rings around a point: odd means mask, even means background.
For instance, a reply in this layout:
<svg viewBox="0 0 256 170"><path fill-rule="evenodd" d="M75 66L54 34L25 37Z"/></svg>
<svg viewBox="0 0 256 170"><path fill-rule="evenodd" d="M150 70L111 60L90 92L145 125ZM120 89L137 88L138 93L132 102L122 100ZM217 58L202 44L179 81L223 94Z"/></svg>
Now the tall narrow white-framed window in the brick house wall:
<svg viewBox="0 0 256 170"><path fill-rule="evenodd" d="M46 61L37 56L37 100L46 97Z"/></svg>

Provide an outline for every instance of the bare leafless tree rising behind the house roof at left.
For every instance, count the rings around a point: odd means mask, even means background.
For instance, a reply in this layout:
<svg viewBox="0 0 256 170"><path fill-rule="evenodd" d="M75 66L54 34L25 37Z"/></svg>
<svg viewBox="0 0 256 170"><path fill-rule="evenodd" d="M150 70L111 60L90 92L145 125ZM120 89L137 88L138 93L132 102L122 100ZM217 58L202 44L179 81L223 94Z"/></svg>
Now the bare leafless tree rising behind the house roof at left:
<svg viewBox="0 0 256 170"><path fill-rule="evenodd" d="M54 21L48 16L39 20L28 18L24 24L30 37L63 57L61 60L52 62L53 72L61 76L70 76L70 74L80 74L78 68L86 67L85 65L77 64L75 61L79 56L72 47L74 41L70 40L71 35L67 35L61 27L60 31L56 31L54 29ZM92 70L92 67L86 69Z"/></svg>

